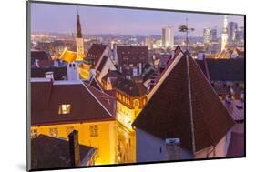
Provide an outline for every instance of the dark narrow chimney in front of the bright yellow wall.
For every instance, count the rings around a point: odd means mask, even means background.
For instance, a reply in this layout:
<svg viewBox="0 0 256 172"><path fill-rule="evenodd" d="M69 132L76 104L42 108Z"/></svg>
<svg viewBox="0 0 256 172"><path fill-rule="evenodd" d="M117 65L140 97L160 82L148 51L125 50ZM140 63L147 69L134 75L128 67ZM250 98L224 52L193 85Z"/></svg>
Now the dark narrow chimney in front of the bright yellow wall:
<svg viewBox="0 0 256 172"><path fill-rule="evenodd" d="M78 142L78 131L73 130L69 135L69 154L71 167L80 166L80 150Z"/></svg>

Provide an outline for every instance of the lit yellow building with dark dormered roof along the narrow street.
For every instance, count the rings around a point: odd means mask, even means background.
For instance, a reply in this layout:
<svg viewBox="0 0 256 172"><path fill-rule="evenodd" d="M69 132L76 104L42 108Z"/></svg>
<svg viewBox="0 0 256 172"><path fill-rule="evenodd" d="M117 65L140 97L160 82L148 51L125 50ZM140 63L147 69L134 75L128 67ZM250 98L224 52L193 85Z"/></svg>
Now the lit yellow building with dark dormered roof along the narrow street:
<svg viewBox="0 0 256 172"><path fill-rule="evenodd" d="M115 91L118 122L133 131L131 124L148 101L146 87L121 76L118 71L108 71L101 85L105 90Z"/></svg>

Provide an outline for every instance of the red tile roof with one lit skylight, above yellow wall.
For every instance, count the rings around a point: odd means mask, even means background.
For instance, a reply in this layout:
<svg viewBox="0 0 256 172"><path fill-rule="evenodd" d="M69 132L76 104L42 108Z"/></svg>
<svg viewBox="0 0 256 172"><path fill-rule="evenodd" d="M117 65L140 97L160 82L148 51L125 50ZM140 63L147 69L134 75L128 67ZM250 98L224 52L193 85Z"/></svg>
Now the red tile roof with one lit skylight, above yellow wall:
<svg viewBox="0 0 256 172"><path fill-rule="evenodd" d="M62 104L71 105L70 114L58 114ZM111 96L87 84L31 82L32 126L114 120L115 109Z"/></svg>

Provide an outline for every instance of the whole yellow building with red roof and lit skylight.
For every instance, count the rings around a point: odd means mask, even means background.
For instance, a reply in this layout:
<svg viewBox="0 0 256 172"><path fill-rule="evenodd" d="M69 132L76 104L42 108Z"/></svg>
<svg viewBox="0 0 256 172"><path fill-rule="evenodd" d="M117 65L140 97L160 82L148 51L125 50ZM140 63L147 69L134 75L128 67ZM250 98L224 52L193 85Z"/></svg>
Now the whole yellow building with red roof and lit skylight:
<svg viewBox="0 0 256 172"><path fill-rule="evenodd" d="M45 80L44 80L45 79ZM95 164L117 162L116 99L81 81L31 80L31 137L68 138L97 148Z"/></svg>

